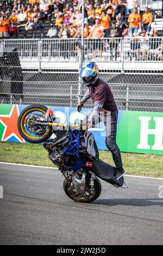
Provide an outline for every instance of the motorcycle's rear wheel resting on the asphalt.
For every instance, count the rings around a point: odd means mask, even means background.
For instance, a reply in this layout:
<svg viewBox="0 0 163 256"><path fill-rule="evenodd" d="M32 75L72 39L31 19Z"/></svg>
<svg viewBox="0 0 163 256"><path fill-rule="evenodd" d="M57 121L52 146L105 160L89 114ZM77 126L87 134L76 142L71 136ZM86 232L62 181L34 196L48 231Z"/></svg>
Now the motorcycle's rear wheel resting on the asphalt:
<svg viewBox="0 0 163 256"><path fill-rule="evenodd" d="M75 202L90 203L96 200L101 194L101 183L96 178L94 180L94 186L91 186L86 182L85 192L77 193L72 182L64 180L64 191L68 197Z"/></svg>

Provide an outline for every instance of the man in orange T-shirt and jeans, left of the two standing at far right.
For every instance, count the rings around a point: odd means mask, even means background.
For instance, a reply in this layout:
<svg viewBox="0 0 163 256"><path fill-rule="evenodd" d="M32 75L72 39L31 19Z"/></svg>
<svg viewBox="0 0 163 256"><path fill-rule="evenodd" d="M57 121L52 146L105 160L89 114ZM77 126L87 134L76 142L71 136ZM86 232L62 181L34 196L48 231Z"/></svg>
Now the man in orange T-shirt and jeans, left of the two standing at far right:
<svg viewBox="0 0 163 256"><path fill-rule="evenodd" d="M134 33L137 33L138 29L141 29L141 17L140 14L137 13L137 8L134 8L133 13L131 13L128 17L129 22L129 34L133 35Z"/></svg>

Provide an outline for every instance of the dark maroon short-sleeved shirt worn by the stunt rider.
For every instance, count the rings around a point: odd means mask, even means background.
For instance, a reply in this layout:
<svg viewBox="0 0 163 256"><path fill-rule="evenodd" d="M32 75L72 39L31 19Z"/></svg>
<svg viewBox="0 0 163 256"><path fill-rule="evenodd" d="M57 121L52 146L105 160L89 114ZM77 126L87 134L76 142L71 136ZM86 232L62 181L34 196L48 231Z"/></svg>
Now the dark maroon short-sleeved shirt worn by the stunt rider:
<svg viewBox="0 0 163 256"><path fill-rule="evenodd" d="M93 102L102 101L104 102L102 111L116 111L117 105L114 101L114 96L111 93L111 90L105 81L101 78L98 78L93 86L89 87L91 99Z"/></svg>

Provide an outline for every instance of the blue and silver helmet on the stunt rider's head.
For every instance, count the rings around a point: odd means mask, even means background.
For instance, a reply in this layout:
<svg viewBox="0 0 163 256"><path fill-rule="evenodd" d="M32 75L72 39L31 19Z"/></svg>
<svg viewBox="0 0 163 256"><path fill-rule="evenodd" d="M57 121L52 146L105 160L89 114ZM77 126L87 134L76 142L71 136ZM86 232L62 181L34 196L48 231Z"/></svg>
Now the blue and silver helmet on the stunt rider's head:
<svg viewBox="0 0 163 256"><path fill-rule="evenodd" d="M90 62L80 70L79 76L83 78L83 82L87 87L92 86L99 77L97 64L95 62ZM92 77L92 79L86 81L85 77Z"/></svg>

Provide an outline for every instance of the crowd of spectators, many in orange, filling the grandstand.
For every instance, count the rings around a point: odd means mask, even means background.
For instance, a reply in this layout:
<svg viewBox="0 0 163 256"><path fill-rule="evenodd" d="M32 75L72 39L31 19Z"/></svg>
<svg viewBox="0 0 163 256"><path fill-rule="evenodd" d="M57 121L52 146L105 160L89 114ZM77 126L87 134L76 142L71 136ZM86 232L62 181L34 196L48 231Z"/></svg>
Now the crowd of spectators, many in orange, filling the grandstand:
<svg viewBox="0 0 163 256"><path fill-rule="evenodd" d="M82 33L82 0L2 0L0 8L0 37L40 29L50 38L80 38ZM140 29L149 35L152 20L148 8L142 16L137 12L137 0L85 0L84 37L124 37Z"/></svg>

